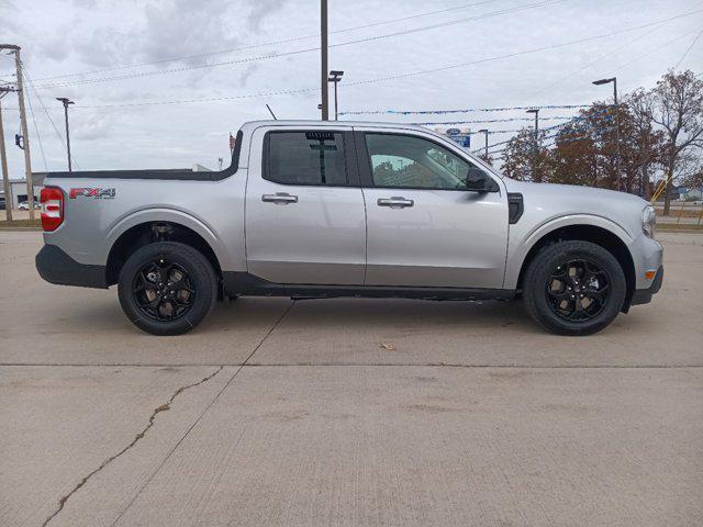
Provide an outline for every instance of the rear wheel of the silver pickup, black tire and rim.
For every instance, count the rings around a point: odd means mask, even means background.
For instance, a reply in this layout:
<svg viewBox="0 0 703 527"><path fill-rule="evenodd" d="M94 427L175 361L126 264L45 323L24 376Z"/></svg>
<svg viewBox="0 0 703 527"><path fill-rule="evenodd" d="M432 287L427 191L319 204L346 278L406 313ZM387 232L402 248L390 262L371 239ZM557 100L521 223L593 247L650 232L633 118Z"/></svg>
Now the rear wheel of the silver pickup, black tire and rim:
<svg viewBox="0 0 703 527"><path fill-rule="evenodd" d="M140 329L182 335L212 311L217 278L200 251L176 242L158 242L141 247L127 259L118 292L124 314Z"/></svg>

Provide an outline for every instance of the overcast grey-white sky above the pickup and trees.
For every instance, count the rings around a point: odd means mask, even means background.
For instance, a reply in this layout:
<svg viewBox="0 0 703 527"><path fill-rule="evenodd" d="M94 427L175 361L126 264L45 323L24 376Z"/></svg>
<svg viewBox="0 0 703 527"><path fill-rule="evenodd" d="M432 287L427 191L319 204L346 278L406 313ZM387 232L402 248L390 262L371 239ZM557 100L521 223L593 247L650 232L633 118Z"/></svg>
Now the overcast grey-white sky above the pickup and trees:
<svg viewBox="0 0 703 527"><path fill-rule="evenodd" d="M358 26L366 27L342 31ZM216 169L219 157L228 164L228 133L245 121L268 119L266 102L279 119L320 117L317 0L1 0L0 29L0 40L22 46L36 87L29 94L44 156L30 116L34 171L66 167L64 146L37 96L62 136L63 108L55 98L76 101L71 148L83 170L194 162ZM626 92L651 87L682 57L679 70L703 71L703 36L694 43L702 30L703 2L696 0L330 0L330 68L345 71L341 111L582 104L611 97L610 86L591 85L602 77L617 76ZM621 33L568 44L614 32ZM283 40L292 41L243 49ZM526 53L548 46L560 47ZM518 55L492 59L512 54ZM129 67L144 63L158 64ZM427 70L434 71L422 72ZM12 71L12 60L0 56L0 80L13 80ZM98 72L56 78L83 71ZM4 98L3 109L10 175L22 177L14 94ZM574 112L543 110L540 116ZM360 119L525 116L513 111ZM462 126L499 131L526 124ZM495 134L490 141L509 137Z"/></svg>

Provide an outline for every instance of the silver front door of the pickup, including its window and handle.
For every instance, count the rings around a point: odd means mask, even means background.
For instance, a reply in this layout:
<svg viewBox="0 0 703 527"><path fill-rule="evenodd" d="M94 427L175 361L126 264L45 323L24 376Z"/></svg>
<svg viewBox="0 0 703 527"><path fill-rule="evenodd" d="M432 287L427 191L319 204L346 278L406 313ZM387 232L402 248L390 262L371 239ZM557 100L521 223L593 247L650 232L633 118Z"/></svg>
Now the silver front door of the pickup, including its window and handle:
<svg viewBox="0 0 703 527"><path fill-rule="evenodd" d="M367 205L367 285L501 289L507 199L432 134L355 127ZM493 192L467 190L467 177Z"/></svg>

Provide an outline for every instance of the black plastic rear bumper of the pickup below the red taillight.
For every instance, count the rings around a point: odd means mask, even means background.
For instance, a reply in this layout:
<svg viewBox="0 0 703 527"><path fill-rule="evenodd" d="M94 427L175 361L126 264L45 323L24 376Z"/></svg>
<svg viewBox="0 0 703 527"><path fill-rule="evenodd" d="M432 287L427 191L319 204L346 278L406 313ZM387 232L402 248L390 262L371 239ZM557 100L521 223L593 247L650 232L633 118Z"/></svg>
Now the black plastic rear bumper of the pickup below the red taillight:
<svg viewBox="0 0 703 527"><path fill-rule="evenodd" d="M49 283L108 289L104 266L79 264L55 245L44 245L34 261L40 276Z"/></svg>

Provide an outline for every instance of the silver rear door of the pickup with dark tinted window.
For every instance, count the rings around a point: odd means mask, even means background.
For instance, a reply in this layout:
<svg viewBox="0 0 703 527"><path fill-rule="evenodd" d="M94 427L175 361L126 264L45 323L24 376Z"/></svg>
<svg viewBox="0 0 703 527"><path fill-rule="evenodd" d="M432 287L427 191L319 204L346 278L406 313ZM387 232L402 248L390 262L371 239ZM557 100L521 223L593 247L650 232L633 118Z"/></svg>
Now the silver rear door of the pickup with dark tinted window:
<svg viewBox="0 0 703 527"><path fill-rule="evenodd" d="M366 216L352 128L265 126L252 145L248 272L276 283L362 284Z"/></svg>

